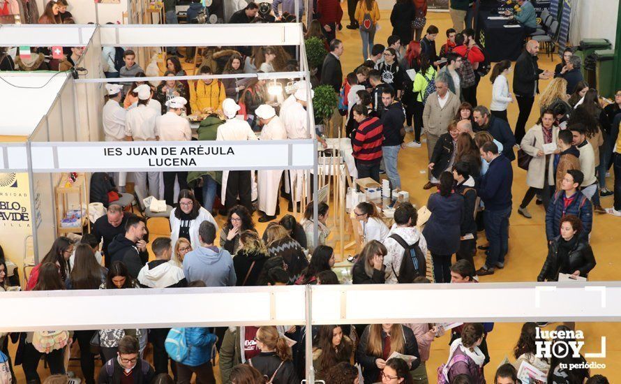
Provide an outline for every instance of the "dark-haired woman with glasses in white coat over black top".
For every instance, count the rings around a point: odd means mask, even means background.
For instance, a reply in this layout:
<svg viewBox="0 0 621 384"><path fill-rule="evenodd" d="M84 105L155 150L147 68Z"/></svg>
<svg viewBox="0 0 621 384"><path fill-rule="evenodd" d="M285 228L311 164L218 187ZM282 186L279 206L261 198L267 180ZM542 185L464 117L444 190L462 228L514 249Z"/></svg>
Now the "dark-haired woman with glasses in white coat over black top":
<svg viewBox="0 0 621 384"><path fill-rule="evenodd" d="M207 209L200 206L194 197L194 193L188 189L179 191L177 207L170 212L170 239L172 243L177 243L178 239L188 239L193 249L200 246L198 239L198 227L203 221L210 221L216 226L218 224Z"/></svg>

